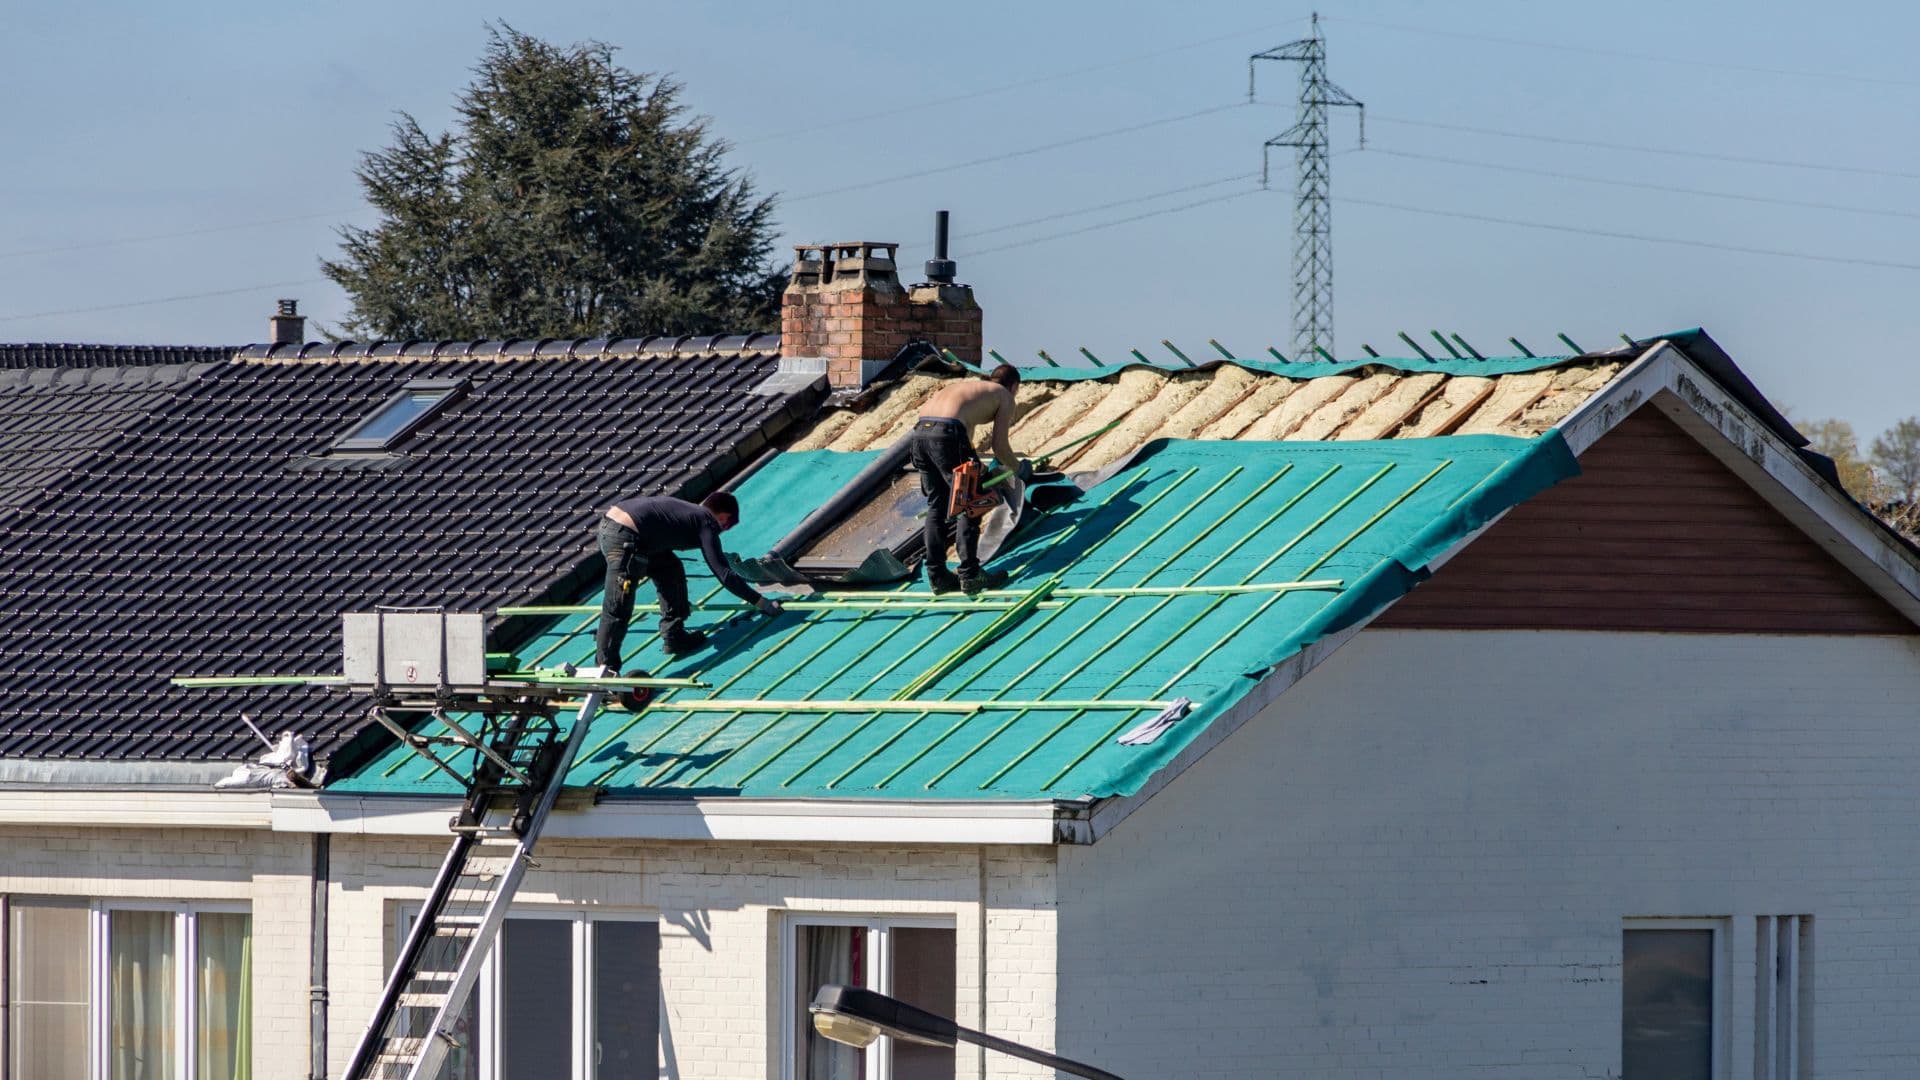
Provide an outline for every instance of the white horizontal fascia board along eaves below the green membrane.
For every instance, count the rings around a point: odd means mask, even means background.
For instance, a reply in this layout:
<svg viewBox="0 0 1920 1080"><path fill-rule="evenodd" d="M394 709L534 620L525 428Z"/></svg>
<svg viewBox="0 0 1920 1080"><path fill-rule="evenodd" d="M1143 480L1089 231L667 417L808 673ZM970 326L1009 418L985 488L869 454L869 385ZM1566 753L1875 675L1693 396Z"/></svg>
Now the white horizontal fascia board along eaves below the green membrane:
<svg viewBox="0 0 1920 1080"><path fill-rule="evenodd" d="M453 798L275 792L276 832L447 836ZM783 844L1075 844L1085 807L1054 799L611 799L557 809L541 838Z"/></svg>

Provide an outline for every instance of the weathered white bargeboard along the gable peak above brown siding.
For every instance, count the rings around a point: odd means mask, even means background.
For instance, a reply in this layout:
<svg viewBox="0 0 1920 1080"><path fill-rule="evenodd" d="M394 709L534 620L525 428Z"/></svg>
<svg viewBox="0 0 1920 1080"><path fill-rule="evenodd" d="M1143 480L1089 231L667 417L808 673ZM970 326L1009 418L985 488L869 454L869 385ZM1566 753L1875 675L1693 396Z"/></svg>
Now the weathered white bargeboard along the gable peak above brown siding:
<svg viewBox="0 0 1920 1080"><path fill-rule="evenodd" d="M1920 557L1887 536L1678 348L1667 342L1651 346L1599 394L1582 402L1561 425L1561 434L1578 455L1645 404L1680 425L1901 615L1920 623Z"/></svg>

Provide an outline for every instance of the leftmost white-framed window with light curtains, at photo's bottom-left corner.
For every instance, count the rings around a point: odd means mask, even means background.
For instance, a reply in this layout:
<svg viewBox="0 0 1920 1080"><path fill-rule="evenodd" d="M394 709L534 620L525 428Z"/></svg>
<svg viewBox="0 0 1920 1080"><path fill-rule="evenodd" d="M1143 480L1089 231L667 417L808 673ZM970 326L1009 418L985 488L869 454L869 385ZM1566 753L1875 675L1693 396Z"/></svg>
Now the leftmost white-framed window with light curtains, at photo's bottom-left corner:
<svg viewBox="0 0 1920 1080"><path fill-rule="evenodd" d="M252 1076L246 911L15 897L6 930L13 1076Z"/></svg>

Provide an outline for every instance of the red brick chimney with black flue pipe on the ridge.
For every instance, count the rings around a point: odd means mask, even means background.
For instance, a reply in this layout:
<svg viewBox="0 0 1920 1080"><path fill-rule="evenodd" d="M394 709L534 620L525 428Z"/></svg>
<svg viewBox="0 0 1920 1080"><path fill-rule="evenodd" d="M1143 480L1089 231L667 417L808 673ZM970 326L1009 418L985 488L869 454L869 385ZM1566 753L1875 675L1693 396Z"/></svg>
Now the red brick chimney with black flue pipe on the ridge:
<svg viewBox="0 0 1920 1080"><path fill-rule="evenodd" d="M937 219L927 282L900 286L899 244L856 240L793 248L793 281L781 298L780 356L824 357L835 388L860 388L912 340L981 357L973 288L954 284L947 259L947 211Z"/></svg>

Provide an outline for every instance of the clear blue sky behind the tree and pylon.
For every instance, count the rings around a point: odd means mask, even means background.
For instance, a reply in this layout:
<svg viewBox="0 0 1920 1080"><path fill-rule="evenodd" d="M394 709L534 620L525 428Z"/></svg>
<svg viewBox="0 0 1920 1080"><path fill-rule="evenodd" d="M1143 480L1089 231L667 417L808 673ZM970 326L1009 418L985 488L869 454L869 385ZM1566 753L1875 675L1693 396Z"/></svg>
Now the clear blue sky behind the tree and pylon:
<svg viewBox="0 0 1920 1080"><path fill-rule="evenodd" d="M484 21L507 19L684 81L685 104L737 144L733 163L783 196L783 242L899 240L918 269L931 211L952 209L960 279L1002 354L1123 356L1162 338L1192 354L1210 336L1284 350L1290 158L1273 192L1117 221L1256 186L1235 177L1292 123L1296 71L1263 65L1248 106L1246 56L1302 37L1309 10L8 0L0 340L248 342L276 296L338 319L319 259L340 223L371 223L357 156L401 110L444 129ZM1795 415L1870 436L1920 413L1920 10L1354 0L1321 13L1329 71L1369 113L1367 150L1354 117L1334 117L1342 356L1404 352L1400 329L1544 352L1555 331L1597 348L1703 325ZM902 173L924 175L872 183ZM818 194L851 184L864 186ZM1173 188L1192 190L1146 198ZM1098 204L1123 206L1073 213ZM1895 265L1860 265L1876 261ZM192 298L150 304L179 296Z"/></svg>

